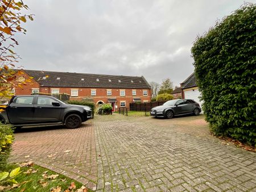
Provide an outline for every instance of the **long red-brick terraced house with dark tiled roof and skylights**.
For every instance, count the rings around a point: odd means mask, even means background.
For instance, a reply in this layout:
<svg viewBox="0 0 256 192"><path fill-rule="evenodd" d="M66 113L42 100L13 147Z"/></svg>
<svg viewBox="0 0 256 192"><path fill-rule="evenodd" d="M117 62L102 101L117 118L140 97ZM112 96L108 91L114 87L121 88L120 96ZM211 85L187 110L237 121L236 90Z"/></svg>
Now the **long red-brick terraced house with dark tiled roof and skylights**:
<svg viewBox="0 0 256 192"><path fill-rule="evenodd" d="M143 76L22 70L18 78L29 77L34 77L31 84L16 87L13 90L15 95L67 93L70 95L70 100L91 97L96 104L110 103L113 111L118 110L119 107L129 108L129 104L135 101L151 101L150 85Z"/></svg>

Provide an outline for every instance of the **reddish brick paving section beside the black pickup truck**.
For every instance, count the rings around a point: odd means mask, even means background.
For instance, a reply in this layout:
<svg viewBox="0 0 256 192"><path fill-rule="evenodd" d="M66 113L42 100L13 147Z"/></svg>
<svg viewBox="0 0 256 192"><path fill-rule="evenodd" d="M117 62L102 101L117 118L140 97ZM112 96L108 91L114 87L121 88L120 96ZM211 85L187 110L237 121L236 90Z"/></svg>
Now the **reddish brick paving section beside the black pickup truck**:
<svg viewBox="0 0 256 192"><path fill-rule="evenodd" d="M10 161L30 160L96 189L96 145L92 120L75 130L42 127L16 132Z"/></svg>

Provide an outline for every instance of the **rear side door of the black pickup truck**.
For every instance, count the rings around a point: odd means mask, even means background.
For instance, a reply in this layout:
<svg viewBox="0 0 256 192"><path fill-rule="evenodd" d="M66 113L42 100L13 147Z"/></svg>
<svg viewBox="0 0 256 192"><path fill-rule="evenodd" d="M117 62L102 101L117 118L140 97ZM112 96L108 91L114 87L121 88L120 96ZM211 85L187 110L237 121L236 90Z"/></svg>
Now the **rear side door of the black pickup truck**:
<svg viewBox="0 0 256 192"><path fill-rule="evenodd" d="M11 124L28 124L34 122L34 96L18 96L7 107Z"/></svg>

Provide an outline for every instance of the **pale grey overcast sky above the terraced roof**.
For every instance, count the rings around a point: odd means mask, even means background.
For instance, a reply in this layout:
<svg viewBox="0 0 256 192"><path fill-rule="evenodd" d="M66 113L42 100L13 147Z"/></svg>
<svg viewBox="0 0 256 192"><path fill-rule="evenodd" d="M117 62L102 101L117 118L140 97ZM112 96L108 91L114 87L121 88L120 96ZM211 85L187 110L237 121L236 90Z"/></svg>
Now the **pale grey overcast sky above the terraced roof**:
<svg viewBox="0 0 256 192"><path fill-rule="evenodd" d="M193 72L191 47L239 0L24 1L35 14L15 51L24 69L170 78ZM246 2L256 3L256 0Z"/></svg>

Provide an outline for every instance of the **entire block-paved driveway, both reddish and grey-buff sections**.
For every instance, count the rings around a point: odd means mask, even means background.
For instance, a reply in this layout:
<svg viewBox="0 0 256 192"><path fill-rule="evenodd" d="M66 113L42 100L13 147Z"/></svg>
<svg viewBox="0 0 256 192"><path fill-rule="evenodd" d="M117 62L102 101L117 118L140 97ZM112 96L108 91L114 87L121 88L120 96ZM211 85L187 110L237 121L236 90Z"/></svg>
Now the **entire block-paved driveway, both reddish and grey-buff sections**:
<svg viewBox="0 0 256 192"><path fill-rule="evenodd" d="M31 159L97 191L256 191L255 153L210 136L203 115L96 116L77 130L17 132L13 148L11 161Z"/></svg>

